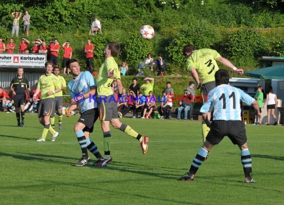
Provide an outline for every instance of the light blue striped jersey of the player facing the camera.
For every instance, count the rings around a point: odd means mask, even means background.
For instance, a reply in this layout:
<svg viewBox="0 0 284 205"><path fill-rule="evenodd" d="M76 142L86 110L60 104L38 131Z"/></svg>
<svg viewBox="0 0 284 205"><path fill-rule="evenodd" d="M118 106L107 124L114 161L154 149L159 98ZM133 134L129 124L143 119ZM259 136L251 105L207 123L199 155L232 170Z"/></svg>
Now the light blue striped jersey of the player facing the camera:
<svg viewBox="0 0 284 205"><path fill-rule="evenodd" d="M76 100L76 96L87 93L90 91L90 87L97 87L94 77L89 71L80 72L80 75L77 79L72 79L68 83L68 88L70 92L70 97ZM81 113L85 112L88 109L98 107L98 103L92 98L85 99L80 103Z"/></svg>

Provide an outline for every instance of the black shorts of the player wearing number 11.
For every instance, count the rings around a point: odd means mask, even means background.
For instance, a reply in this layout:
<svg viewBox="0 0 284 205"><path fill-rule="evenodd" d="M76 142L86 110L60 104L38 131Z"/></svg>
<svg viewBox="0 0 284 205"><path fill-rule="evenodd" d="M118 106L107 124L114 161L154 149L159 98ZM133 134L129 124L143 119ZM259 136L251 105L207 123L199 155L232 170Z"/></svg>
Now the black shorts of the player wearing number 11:
<svg viewBox="0 0 284 205"><path fill-rule="evenodd" d="M228 136L233 144L239 146L247 142L247 135L244 123L240 120L213 120L211 129L206 140L212 145L219 144L222 139Z"/></svg>

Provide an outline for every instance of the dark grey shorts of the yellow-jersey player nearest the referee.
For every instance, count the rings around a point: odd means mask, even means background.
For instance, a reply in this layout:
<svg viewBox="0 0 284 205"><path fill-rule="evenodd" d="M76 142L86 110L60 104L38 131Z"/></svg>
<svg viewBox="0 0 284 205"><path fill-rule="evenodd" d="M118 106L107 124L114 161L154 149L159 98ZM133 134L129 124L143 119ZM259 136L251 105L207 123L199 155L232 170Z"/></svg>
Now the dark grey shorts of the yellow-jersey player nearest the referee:
<svg viewBox="0 0 284 205"><path fill-rule="evenodd" d="M39 101L38 104L38 117L50 116L54 117L55 112L55 99L47 98Z"/></svg>

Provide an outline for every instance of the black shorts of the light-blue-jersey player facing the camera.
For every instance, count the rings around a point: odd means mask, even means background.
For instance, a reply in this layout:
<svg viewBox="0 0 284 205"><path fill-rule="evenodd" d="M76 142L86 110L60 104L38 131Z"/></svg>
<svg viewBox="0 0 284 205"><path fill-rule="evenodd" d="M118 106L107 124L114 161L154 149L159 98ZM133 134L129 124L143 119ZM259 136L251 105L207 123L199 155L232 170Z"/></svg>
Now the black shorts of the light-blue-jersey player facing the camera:
<svg viewBox="0 0 284 205"><path fill-rule="evenodd" d="M78 122L83 123L86 127L83 131L93 132L94 124L99 117L99 110L98 108L88 109L87 111L83 112L78 119Z"/></svg>

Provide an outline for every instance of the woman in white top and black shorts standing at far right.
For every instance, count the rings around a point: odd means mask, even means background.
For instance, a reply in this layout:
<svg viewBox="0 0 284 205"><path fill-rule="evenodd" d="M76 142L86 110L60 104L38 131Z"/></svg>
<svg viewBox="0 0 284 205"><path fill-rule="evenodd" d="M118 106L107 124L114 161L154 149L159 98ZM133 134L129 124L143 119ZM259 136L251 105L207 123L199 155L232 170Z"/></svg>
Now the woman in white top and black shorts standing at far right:
<svg viewBox="0 0 284 205"><path fill-rule="evenodd" d="M272 114L275 122L273 125L277 125L277 119L275 115L275 107L277 107L277 96L273 92L272 87L268 88L268 93L266 94L266 101L265 104L267 105L267 125L270 125L270 113Z"/></svg>

